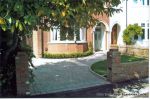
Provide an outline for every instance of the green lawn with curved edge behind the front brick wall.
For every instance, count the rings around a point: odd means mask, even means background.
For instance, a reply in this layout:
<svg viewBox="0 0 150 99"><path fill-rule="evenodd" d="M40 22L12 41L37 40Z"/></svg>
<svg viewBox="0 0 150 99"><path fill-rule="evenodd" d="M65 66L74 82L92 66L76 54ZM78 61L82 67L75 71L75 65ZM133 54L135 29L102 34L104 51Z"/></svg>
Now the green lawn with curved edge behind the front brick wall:
<svg viewBox="0 0 150 99"><path fill-rule="evenodd" d="M141 61L141 60L144 60L144 58L121 55L121 63ZM99 75L106 76L106 74L107 74L107 66L106 65L107 65L107 60L98 61L91 66L91 69L94 72L98 73Z"/></svg>

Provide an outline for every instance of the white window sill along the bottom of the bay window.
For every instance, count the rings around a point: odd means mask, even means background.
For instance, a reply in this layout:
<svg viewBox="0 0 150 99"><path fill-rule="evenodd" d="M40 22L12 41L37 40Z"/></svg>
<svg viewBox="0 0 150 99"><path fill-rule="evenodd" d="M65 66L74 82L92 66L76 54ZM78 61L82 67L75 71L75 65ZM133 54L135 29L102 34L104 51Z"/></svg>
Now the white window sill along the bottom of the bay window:
<svg viewBox="0 0 150 99"><path fill-rule="evenodd" d="M87 43L87 41L51 41L51 44L76 44L76 43Z"/></svg>

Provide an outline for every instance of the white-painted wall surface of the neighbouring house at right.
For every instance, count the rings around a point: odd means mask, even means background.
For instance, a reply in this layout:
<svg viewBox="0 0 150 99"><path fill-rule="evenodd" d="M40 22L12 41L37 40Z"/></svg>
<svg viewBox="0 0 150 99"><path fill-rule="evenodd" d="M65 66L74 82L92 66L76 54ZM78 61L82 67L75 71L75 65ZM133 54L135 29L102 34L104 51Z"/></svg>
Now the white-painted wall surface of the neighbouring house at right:
<svg viewBox="0 0 150 99"><path fill-rule="evenodd" d="M147 4L142 5L142 0L137 0L137 3L134 2L135 0L128 0L127 1L127 25L138 23L141 26L141 23L150 24L150 5ZM123 31L126 28L126 0L121 0L121 4L118 8L121 8L123 12L115 13L112 17L110 17L110 33L112 31L112 27L114 24L118 23L120 25L120 33L118 36L117 44L124 45L123 43ZM145 0L147 3L147 0ZM150 3L150 1L149 1ZM147 31L147 30L146 30ZM147 33L146 35L147 36ZM111 39L111 36L109 37ZM144 40L138 40L136 46L148 47L149 40L146 38ZM111 44L111 40L109 42Z"/></svg>

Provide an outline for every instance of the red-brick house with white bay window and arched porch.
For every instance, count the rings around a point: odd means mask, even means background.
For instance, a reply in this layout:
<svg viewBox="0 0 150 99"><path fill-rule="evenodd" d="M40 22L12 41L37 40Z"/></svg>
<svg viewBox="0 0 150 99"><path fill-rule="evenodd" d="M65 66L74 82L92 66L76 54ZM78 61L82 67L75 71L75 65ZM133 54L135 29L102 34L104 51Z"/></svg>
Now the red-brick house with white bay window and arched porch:
<svg viewBox="0 0 150 99"><path fill-rule="evenodd" d="M62 33L64 28L53 27L50 31L33 31L33 52L36 57L42 53L51 54L85 52L91 43L93 51L106 51L108 45L109 17L97 15L97 25L90 28L72 28Z"/></svg>

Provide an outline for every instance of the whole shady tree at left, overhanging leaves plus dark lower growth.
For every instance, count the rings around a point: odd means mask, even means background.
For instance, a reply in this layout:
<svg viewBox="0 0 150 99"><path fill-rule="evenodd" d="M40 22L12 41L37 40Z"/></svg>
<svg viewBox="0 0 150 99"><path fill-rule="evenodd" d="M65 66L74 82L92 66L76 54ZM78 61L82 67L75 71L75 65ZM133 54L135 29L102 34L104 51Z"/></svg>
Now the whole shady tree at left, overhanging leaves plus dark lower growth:
<svg viewBox="0 0 150 99"><path fill-rule="evenodd" d="M33 29L72 25L89 27L97 21L93 15L111 16L120 11L114 8L119 4L120 0L0 0L2 94L16 92L15 56L18 51L28 48L24 38L31 36ZM26 51L32 52L30 49ZM31 56L30 53L29 61Z"/></svg>

